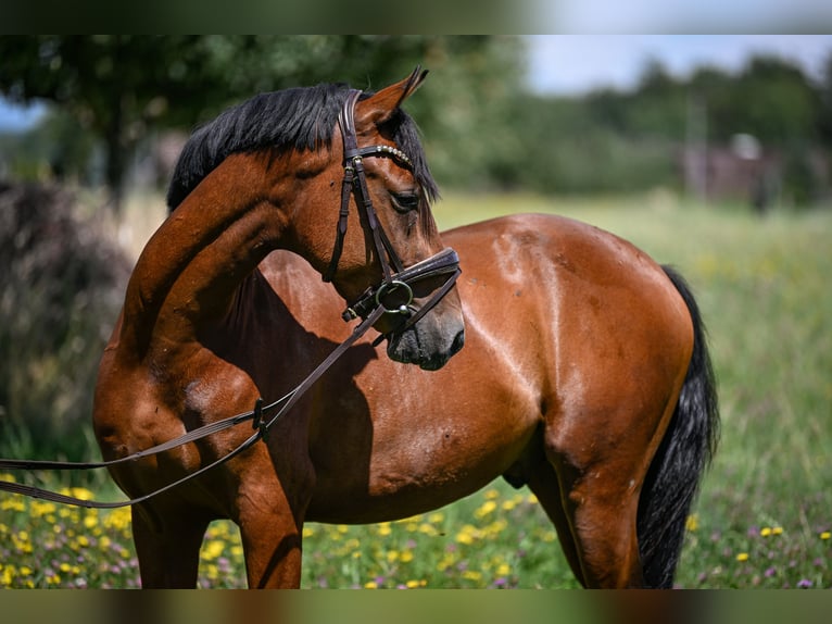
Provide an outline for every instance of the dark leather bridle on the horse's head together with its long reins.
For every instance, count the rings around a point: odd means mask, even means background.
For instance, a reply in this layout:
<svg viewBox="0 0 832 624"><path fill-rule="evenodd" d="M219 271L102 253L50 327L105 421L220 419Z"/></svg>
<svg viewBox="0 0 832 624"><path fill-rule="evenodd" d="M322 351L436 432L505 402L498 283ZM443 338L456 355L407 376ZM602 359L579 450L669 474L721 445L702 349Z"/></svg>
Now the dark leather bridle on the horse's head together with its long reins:
<svg viewBox="0 0 832 624"><path fill-rule="evenodd" d="M371 240L374 245L374 251L381 264L382 279L376 285L367 288L358 299L350 305L342 314L344 321L352 321L355 319L362 319L362 322L353 329L346 340L341 342L336 349L324 360L318 366L310 373L310 375L301 382L293 390L280 399L264 405L263 399L257 399L254 404L254 409L230 416L214 423L210 423L202 427L192 429L177 438L154 446L149 449L138 451L134 454L118 458L110 461L100 462L60 462L60 461L42 461L42 460L14 460L14 459L0 459L0 470L29 470L29 471L43 471L43 470L91 470L109 467L127 462L138 461L141 458L152 457L157 453L174 449L178 446L194 442L207 436L217 434L230 427L237 426L241 423L251 421L254 433L241 445L235 448L229 453L218 458L214 462L201 467L200 470L192 472L185 477L175 481L162 488L153 490L144 496L134 498L124 501L102 502L94 500L80 499L73 496L50 491L47 489L29 486L25 484L18 484L13 482L0 481L0 491L10 491L13 494L20 494L23 496L29 496L34 498L41 498L45 500L51 500L63 504L74 504L78 507L94 508L94 509L116 509L121 507L127 507L144 502L154 496L162 494L190 481L207 471L218 466L230 460L231 458L240 454L244 450L254 446L259 440L266 440L268 436L268 429L300 400L303 394L317 382L322 375L367 330L381 319L385 314L399 314L405 319L399 327L394 328L391 333L398 334L411 328L415 323L419 321L429 310L431 310L450 290L453 288L456 278L461 274L459 258L456 252L451 248L445 248L439 253L431 255L430 258L423 260L412 266L404 267L399 255L395 253L390 239L385 233L381 224L378 221L378 216L373 207L369 191L367 189L367 180L364 173L363 159L370 157L389 157L394 158L396 161L407 167L413 169L411 159L402 152L400 149L386 146L370 146L358 148L357 137L355 135L354 123L354 108L355 102L361 97L361 91L351 89L344 100L343 108L338 117L338 123L341 128L344 142L344 178L341 186L341 211L338 220L338 232L336 236L336 245L332 251L332 259L329 263L327 272L324 274L325 282L331 282L335 273L338 269L338 262L343 250L343 239L346 234L346 222L350 211L350 198L355 194L355 202L358 205L361 215L369 227L371 233ZM415 309L412 303L414 302L414 287L419 282L434 280L438 277L443 277L445 282L437 288L430 299L423 303L418 309ZM374 346L378 345L386 335L380 335L375 341ZM279 409L278 409L279 408ZM275 415L267 419L267 414L277 410Z"/></svg>

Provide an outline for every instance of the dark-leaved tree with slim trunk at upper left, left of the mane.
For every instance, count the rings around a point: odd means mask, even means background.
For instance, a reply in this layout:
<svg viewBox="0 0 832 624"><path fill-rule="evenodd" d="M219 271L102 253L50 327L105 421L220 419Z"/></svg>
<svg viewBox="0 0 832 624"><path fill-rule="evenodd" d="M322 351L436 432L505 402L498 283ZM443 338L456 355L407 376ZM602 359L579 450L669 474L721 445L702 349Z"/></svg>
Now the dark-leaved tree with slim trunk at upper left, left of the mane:
<svg viewBox="0 0 832 624"><path fill-rule="evenodd" d="M196 37L3 37L0 55L0 89L10 99L49 100L103 140L116 207L129 152L151 125L188 110L171 102L194 98L211 67Z"/></svg>

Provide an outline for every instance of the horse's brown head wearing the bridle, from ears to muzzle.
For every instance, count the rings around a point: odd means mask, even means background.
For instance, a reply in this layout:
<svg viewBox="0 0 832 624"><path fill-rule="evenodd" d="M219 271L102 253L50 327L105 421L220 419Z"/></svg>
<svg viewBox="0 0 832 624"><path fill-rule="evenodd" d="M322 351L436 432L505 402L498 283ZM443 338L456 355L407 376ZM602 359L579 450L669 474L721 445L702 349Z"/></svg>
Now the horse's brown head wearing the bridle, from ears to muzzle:
<svg viewBox="0 0 832 624"><path fill-rule="evenodd" d="M400 108L426 73L370 96L346 92L332 148L300 163L290 248L356 301L348 314L374 302L389 310L375 327L391 359L436 370L462 348L464 324L450 288L458 261L442 246L430 212L437 188Z"/></svg>

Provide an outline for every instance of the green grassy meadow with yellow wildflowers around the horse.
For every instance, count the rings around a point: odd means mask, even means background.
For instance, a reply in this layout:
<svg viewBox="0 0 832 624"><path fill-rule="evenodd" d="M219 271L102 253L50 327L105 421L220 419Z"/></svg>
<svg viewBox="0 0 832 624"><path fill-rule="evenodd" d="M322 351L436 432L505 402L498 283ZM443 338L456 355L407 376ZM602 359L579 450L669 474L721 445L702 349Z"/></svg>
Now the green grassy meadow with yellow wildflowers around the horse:
<svg viewBox="0 0 832 624"><path fill-rule="evenodd" d="M694 288L708 327L722 430L689 517L678 586L832 587L832 210L758 216L741 205L706 205L669 194L449 196L436 210L442 228L512 212L557 212L609 229L675 265ZM127 510L98 512L2 495L0 587L137 587L129 526ZM244 583L236 528L213 524L199 586ZM399 522L307 524L302 586L577 583L534 497L497 481Z"/></svg>

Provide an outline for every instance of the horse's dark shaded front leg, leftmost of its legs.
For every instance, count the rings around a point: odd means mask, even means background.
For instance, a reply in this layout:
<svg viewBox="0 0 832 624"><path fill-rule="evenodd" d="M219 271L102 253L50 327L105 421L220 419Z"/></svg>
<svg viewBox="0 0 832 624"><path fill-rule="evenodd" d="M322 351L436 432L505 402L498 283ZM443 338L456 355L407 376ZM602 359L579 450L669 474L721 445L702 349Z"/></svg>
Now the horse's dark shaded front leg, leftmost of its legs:
<svg viewBox="0 0 832 624"><path fill-rule="evenodd" d="M133 539L142 587L193 589L209 522L185 510L134 506Z"/></svg>

